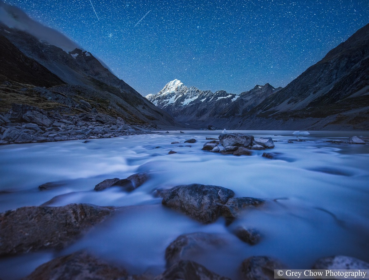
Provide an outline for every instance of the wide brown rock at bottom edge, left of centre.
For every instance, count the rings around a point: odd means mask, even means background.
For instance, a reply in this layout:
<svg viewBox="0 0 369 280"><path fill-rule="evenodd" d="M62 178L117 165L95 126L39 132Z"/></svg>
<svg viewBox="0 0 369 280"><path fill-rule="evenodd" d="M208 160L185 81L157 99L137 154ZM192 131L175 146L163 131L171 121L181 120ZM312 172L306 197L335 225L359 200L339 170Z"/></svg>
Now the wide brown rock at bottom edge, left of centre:
<svg viewBox="0 0 369 280"><path fill-rule="evenodd" d="M80 251L44 263L23 280L126 280L127 276L126 270Z"/></svg>

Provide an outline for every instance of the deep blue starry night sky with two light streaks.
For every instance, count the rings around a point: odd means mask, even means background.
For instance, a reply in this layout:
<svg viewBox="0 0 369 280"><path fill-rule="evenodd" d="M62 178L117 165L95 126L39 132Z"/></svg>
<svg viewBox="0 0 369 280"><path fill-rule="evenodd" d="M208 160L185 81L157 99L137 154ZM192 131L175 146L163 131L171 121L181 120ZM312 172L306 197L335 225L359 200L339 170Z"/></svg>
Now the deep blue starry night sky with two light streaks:
<svg viewBox="0 0 369 280"><path fill-rule="evenodd" d="M173 79L236 94L284 87L369 22L369 0L5 2L63 32L142 95Z"/></svg>

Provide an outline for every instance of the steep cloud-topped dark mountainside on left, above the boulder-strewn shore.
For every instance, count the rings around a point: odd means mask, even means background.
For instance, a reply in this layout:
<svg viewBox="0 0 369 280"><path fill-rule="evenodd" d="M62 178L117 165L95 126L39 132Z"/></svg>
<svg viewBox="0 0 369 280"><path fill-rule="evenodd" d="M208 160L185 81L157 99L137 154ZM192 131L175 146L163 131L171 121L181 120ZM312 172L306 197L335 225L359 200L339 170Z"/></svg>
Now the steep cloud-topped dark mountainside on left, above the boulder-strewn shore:
<svg viewBox="0 0 369 280"><path fill-rule="evenodd" d="M5 15L0 20L1 112L9 110L12 103L24 103L59 113L89 113L91 108L80 106L79 101L84 100L99 113L121 117L130 124L176 125L168 113L114 76L91 53L75 48L64 35L35 23L21 10L0 4ZM32 24L35 27L30 34L25 26ZM48 87L47 96L35 86Z"/></svg>

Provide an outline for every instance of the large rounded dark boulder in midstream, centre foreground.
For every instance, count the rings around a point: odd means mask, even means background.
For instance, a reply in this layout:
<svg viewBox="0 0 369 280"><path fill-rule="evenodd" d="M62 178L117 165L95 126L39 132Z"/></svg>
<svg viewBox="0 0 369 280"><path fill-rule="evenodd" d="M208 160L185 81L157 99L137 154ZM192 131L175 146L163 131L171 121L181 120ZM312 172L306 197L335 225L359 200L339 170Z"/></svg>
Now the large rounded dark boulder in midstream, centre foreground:
<svg viewBox="0 0 369 280"><path fill-rule="evenodd" d="M190 184L166 191L162 204L208 224L220 216L221 207L233 196L234 192L224 187Z"/></svg>

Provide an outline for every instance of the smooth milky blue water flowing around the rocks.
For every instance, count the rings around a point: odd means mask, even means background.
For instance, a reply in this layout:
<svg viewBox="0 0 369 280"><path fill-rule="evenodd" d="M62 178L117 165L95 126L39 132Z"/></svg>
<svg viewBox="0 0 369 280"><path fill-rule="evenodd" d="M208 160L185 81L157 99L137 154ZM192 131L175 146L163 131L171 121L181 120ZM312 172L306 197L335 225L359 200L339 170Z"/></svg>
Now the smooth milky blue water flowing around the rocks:
<svg viewBox="0 0 369 280"><path fill-rule="evenodd" d="M368 132L232 131L268 136L275 148L251 156L202 151L206 137L221 131L179 131L110 139L0 146L0 212L41 205L70 203L131 206L89 231L61 252L46 250L0 259L0 279L19 279L57 256L87 249L132 274L159 274L164 253L181 234L211 232L227 245L199 252L192 260L222 276L237 279L237 270L250 256L271 256L290 268L308 269L321 258L347 255L369 262L369 145L338 144ZM195 138L194 144L183 143ZM303 142L288 143L303 139ZM180 141L181 144L170 144ZM189 145L189 146L187 146ZM168 155L170 150L176 154ZM277 158L263 152L279 153ZM150 179L131 193L119 187L94 191L108 178L137 172ZM40 191L38 186L61 186ZM229 227L224 218L203 225L164 207L158 188L180 184L226 187L235 197L267 200L263 207L244 211ZM251 246L231 233L245 225L257 229L261 241Z"/></svg>

